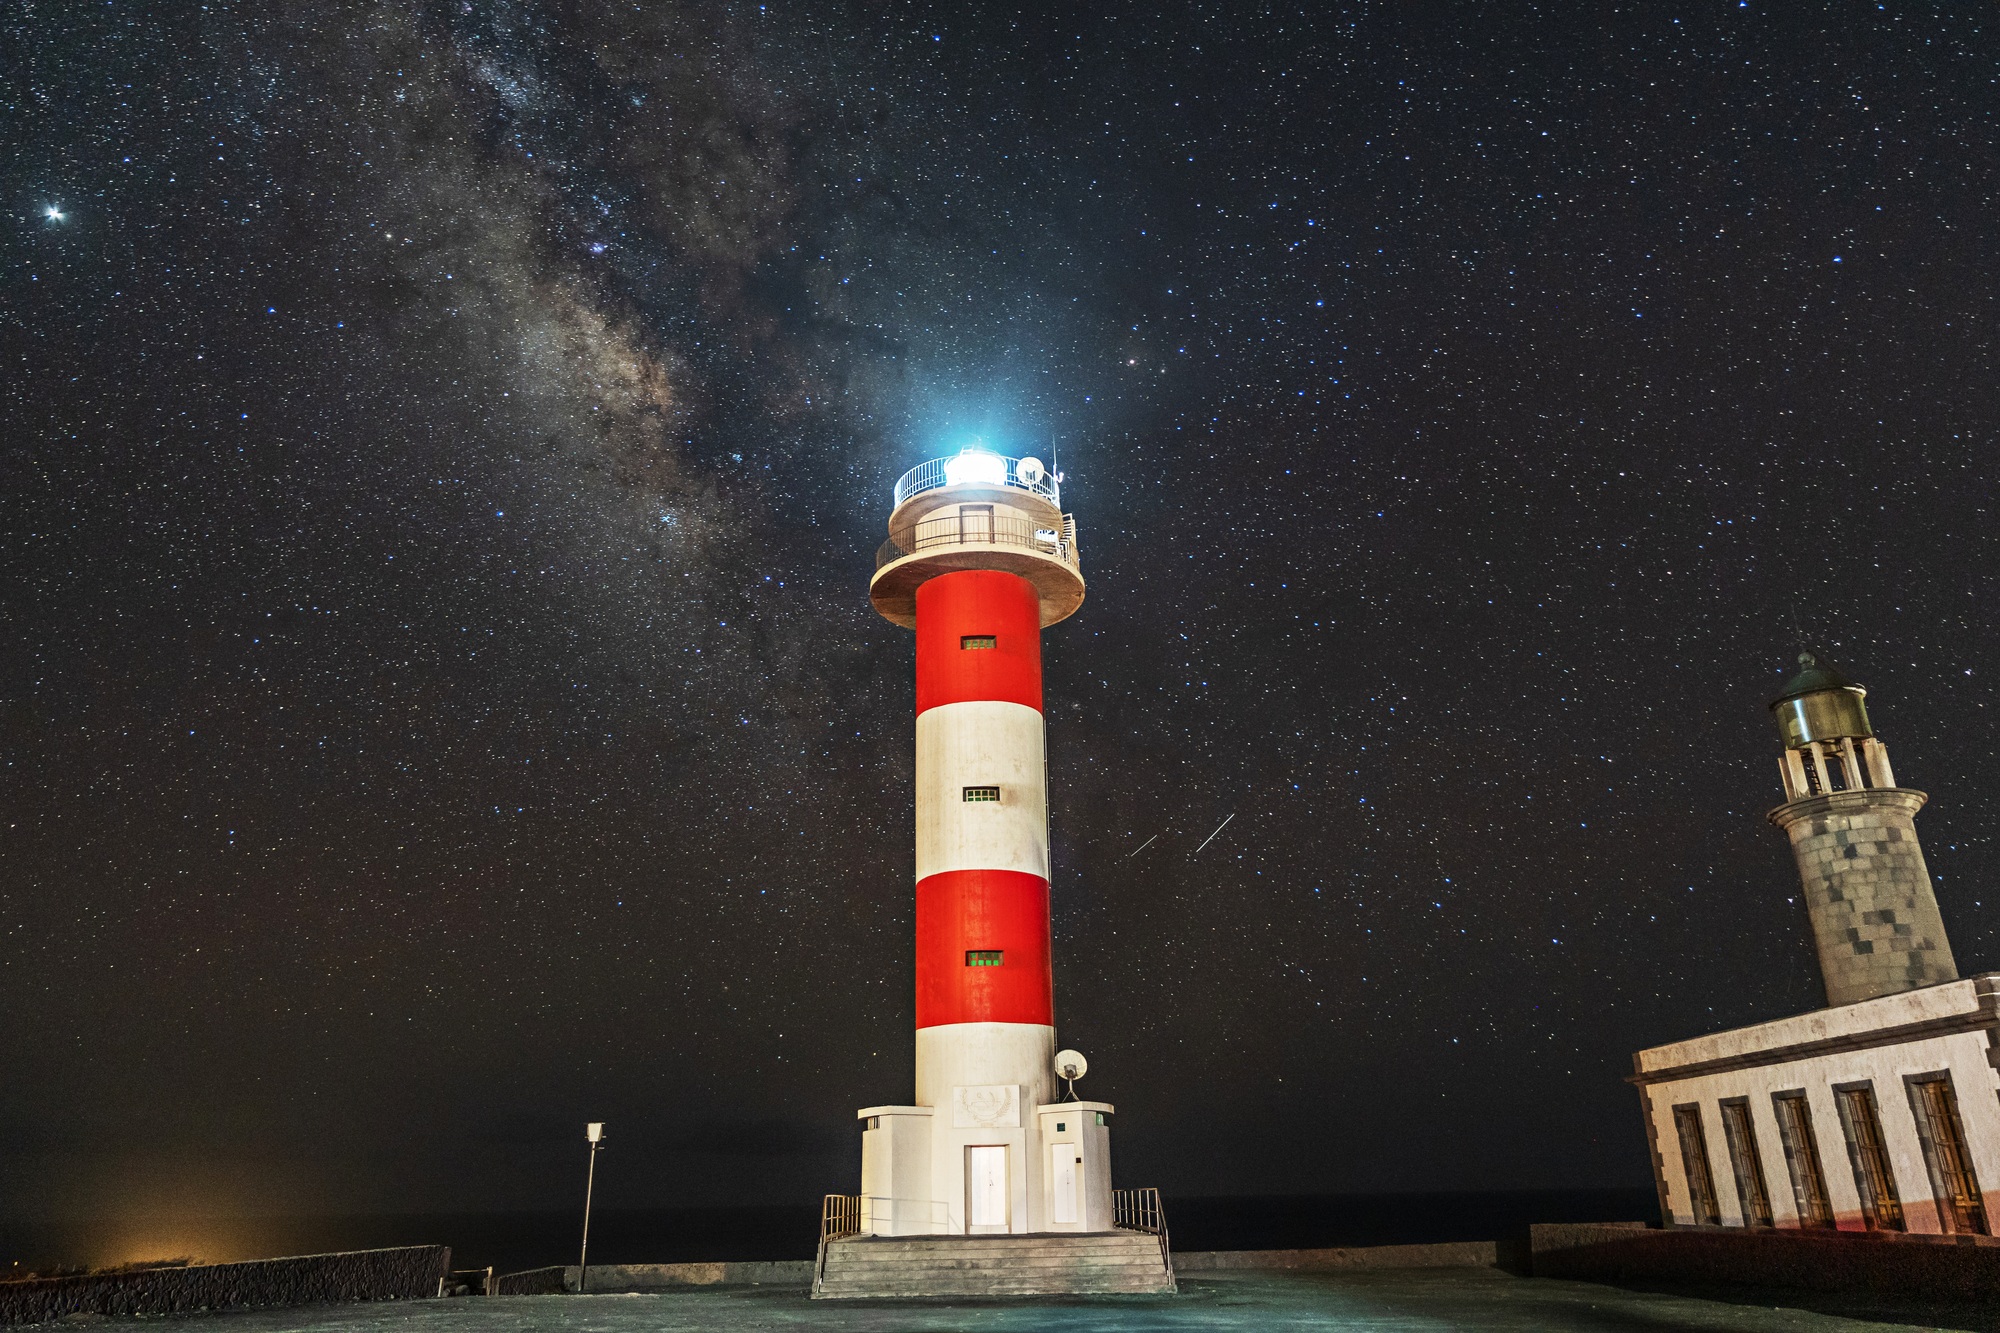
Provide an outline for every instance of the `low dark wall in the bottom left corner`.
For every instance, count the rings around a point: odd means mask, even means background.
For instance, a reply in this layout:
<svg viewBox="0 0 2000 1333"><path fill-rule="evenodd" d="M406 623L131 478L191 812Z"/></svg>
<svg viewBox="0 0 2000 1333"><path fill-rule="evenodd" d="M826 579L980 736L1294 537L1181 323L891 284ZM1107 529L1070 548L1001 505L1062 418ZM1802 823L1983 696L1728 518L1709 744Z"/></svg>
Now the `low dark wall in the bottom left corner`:
<svg viewBox="0 0 2000 1333"><path fill-rule="evenodd" d="M436 1297L450 1271L448 1245L408 1245L138 1273L30 1277L0 1283L0 1323L322 1301L410 1301Z"/></svg>

